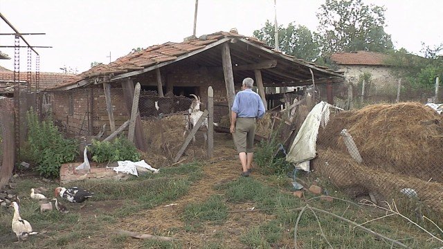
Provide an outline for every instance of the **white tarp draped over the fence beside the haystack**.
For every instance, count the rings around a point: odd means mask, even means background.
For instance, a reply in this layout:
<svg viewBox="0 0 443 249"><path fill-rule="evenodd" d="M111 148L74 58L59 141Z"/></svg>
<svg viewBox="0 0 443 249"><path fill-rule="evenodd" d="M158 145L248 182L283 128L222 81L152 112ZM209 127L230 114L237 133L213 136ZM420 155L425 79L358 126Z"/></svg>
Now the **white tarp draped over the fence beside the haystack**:
<svg viewBox="0 0 443 249"><path fill-rule="evenodd" d="M320 102L309 112L303 122L296 138L293 140L286 160L293 163L296 169L309 172L309 160L316 157L316 141L318 127L324 128L329 121L329 107L333 107L327 102Z"/></svg>

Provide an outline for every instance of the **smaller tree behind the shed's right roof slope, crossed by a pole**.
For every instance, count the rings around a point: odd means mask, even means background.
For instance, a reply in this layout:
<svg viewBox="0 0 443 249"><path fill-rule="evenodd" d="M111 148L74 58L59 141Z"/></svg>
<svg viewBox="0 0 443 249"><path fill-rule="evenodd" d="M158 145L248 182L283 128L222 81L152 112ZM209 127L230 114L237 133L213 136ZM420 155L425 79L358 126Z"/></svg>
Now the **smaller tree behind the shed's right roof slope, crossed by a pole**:
<svg viewBox="0 0 443 249"><path fill-rule="evenodd" d="M263 28L255 30L253 35L257 39L266 42L269 46L275 46L275 29L274 25L267 20ZM278 27L278 39L280 50L287 54L314 61L320 54L320 46L314 39L314 34L305 26L295 26L293 23L288 24L287 28Z"/></svg>

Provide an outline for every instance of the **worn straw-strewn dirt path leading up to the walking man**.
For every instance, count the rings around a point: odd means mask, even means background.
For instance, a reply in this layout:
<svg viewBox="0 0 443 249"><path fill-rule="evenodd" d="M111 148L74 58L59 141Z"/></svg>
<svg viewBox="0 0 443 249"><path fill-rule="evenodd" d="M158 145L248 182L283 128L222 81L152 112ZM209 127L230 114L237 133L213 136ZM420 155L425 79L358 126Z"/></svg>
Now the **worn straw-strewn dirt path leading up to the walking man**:
<svg viewBox="0 0 443 249"><path fill-rule="evenodd" d="M187 205L205 201L214 194L224 194L222 191L215 190L214 187L221 183L235 181L240 177L241 167L232 142L229 140L219 142L214 154L215 158L203 168L204 177L192 184L188 195L173 203L168 203L172 204L170 206L161 205L125 218L118 223L118 228L147 234L171 234L171 236L180 239L186 248L201 248L208 241L217 241L217 237L223 237L223 242L230 248L244 248L244 245L239 242L239 237L251 225L265 221L266 214L233 212L228 215L228 220L224 225L214 225L208 222L202 224L204 228L199 231L186 231L185 224L181 219ZM228 207L230 210L246 210L252 208L253 204L228 203ZM269 216L267 218L269 219Z"/></svg>

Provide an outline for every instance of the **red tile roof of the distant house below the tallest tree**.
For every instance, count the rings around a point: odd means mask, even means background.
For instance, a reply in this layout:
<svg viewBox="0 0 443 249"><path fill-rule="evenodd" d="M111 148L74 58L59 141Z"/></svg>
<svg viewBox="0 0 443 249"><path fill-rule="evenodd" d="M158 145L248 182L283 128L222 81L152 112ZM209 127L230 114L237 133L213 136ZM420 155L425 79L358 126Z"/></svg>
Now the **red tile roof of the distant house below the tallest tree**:
<svg viewBox="0 0 443 249"><path fill-rule="evenodd" d="M369 51L357 51L356 53L334 53L332 61L341 65L389 65L386 59L389 55Z"/></svg>

